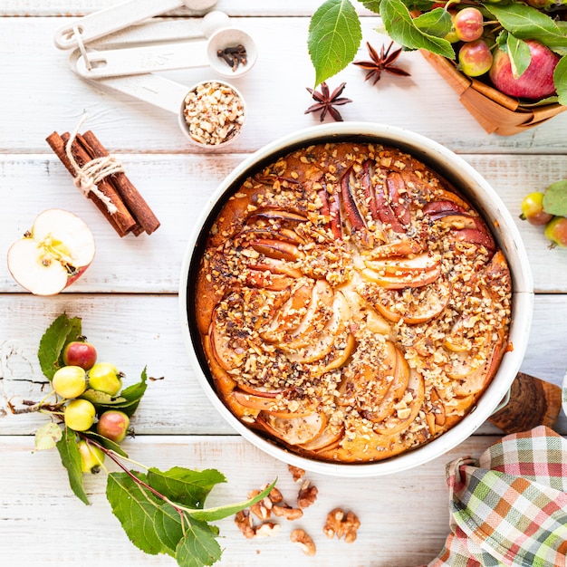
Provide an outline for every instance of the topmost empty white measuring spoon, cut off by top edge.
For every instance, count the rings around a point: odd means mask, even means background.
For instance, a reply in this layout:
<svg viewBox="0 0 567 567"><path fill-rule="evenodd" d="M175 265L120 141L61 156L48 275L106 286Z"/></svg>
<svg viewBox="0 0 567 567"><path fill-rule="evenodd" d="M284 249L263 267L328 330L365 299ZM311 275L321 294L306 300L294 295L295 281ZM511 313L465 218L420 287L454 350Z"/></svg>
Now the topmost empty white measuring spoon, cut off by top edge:
<svg viewBox="0 0 567 567"><path fill-rule="evenodd" d="M81 43L88 43L182 6L190 8L193 15L202 15L214 5L216 0L128 0L63 25L55 32L54 42L60 49L71 49L80 45L77 32Z"/></svg>

